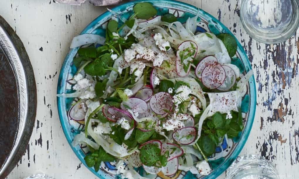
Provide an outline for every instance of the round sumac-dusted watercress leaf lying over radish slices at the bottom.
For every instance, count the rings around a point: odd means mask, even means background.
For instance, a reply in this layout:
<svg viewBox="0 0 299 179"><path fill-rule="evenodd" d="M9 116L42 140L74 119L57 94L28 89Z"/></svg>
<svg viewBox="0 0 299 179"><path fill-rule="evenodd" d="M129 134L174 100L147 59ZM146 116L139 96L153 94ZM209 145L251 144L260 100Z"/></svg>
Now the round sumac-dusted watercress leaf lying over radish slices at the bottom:
<svg viewBox="0 0 299 179"><path fill-rule="evenodd" d="M160 160L161 149L155 144L146 144L140 149L140 160L146 166L155 166Z"/></svg>

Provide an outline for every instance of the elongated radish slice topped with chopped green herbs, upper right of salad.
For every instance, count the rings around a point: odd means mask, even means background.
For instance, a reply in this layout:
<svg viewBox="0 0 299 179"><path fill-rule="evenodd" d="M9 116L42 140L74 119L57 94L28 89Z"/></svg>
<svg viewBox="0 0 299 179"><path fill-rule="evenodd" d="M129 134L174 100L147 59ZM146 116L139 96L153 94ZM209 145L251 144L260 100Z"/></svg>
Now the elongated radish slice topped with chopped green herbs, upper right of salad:
<svg viewBox="0 0 299 179"><path fill-rule="evenodd" d="M189 48L190 48L190 50L187 50ZM184 54L191 53L191 56L188 56L186 59L183 59L183 61L182 61L180 53L182 53L183 50L187 50L186 52L184 52ZM186 63L187 60L193 61L192 58L194 58L196 56L197 50L198 50L198 47L194 41L184 41L179 45L178 51L176 52L176 72L178 73L178 75L180 77L185 77L190 72L191 65L189 65L187 72L186 72L184 70L183 64L187 65L188 64L188 62Z"/></svg>

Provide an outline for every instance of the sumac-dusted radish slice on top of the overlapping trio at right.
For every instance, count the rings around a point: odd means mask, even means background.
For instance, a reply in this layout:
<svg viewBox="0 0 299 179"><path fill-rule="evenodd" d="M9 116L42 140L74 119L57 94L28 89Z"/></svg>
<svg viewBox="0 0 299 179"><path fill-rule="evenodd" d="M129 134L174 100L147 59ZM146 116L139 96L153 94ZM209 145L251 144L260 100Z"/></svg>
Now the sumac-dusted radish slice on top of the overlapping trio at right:
<svg viewBox="0 0 299 179"><path fill-rule="evenodd" d="M225 70L220 64L209 64L202 70L202 84L208 89L216 89L225 80Z"/></svg>

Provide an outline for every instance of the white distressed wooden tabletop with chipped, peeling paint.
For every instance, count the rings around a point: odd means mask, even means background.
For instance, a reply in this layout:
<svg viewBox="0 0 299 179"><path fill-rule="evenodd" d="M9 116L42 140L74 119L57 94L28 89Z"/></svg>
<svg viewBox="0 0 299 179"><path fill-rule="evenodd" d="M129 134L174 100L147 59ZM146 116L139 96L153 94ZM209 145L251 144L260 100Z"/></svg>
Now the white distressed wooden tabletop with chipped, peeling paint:
<svg viewBox="0 0 299 179"><path fill-rule="evenodd" d="M257 84L257 110L242 154L258 154L275 163L280 175L299 178L299 37L266 45L248 36L234 0L183 0L225 24L241 42ZM44 172L56 179L96 178L71 151L61 129L56 88L71 39L102 14L105 7L70 6L53 0L0 0L0 15L23 41L35 73L36 123L27 151L7 177ZM299 35L299 31L297 32ZM219 178L224 178L223 173ZM282 177L286 178L286 177Z"/></svg>

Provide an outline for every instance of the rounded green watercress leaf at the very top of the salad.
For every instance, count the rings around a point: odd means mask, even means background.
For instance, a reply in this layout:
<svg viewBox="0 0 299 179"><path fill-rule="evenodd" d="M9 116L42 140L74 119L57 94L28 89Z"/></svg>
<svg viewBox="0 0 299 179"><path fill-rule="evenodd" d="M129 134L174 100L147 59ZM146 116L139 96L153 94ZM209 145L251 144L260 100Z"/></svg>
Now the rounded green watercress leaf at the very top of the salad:
<svg viewBox="0 0 299 179"><path fill-rule="evenodd" d="M157 10L148 2L141 2L135 4L133 7L134 13L137 18L148 19L157 14Z"/></svg>

